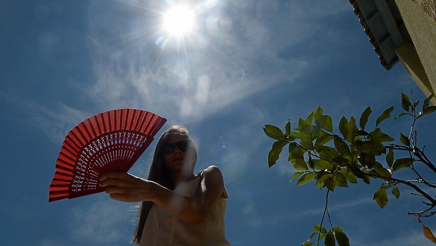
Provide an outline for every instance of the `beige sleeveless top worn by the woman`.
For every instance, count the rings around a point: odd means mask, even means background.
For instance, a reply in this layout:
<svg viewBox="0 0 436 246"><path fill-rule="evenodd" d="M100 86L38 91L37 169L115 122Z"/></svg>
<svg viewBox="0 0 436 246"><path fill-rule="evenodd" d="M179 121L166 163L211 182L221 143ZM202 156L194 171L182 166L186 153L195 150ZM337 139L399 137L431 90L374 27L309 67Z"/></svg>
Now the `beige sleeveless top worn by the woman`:
<svg viewBox="0 0 436 246"><path fill-rule="evenodd" d="M177 185L174 192L194 197L201 187L201 175ZM153 205L145 221L139 246L230 246L225 236L226 188L200 224L185 222ZM177 201L174 201L177 202Z"/></svg>

